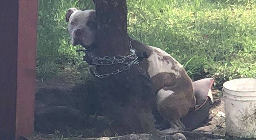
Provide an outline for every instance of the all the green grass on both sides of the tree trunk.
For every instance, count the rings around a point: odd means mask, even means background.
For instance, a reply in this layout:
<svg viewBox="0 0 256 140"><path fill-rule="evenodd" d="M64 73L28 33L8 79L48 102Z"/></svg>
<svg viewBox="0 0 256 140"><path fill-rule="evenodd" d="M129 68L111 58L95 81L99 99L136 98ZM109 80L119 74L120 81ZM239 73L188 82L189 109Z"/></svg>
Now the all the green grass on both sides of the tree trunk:
<svg viewBox="0 0 256 140"><path fill-rule="evenodd" d="M39 0L38 78L67 65L87 69L70 45L64 17L91 1ZM256 0L127 0L127 6L129 35L167 51L192 79L256 77Z"/></svg>

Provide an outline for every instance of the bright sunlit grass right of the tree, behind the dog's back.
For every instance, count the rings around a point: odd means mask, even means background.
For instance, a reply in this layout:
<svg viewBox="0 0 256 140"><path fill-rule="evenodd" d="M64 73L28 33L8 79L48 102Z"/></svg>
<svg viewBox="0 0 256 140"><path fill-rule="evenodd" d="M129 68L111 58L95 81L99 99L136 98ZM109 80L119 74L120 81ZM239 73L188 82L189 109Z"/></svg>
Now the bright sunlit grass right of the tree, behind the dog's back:
<svg viewBox="0 0 256 140"><path fill-rule="evenodd" d="M128 30L169 52L191 77L255 77L255 8L241 0L128 0Z"/></svg>

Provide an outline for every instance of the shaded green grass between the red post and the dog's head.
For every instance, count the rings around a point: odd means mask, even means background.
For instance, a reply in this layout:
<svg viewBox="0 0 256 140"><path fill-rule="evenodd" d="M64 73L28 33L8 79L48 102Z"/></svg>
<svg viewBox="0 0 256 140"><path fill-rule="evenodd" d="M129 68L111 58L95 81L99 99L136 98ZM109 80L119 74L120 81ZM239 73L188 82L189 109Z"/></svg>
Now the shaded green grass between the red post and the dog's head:
<svg viewBox="0 0 256 140"><path fill-rule="evenodd" d="M47 79L60 70L72 67L76 71L87 71L82 53L70 43L65 22L68 8L94 8L91 0L39 0L37 34L37 78Z"/></svg>

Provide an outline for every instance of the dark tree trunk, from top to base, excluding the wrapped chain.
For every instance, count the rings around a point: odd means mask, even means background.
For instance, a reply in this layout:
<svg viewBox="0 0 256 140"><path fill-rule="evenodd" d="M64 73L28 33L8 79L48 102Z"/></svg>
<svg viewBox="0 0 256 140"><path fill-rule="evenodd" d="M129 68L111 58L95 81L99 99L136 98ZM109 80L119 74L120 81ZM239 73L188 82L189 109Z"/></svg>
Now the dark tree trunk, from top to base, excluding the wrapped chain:
<svg viewBox="0 0 256 140"><path fill-rule="evenodd" d="M89 52L89 57L93 59L131 54L127 34L126 0L94 0L94 3L98 29L96 44ZM103 116L114 120L111 124L112 134L140 132L141 128L144 132L156 134L151 112L151 107L155 103L152 80L147 71L134 62L127 71L124 71L127 64L122 63L96 65L98 73L113 74L101 79L97 85L97 97L102 106ZM121 69L124 72L114 75L116 70Z"/></svg>

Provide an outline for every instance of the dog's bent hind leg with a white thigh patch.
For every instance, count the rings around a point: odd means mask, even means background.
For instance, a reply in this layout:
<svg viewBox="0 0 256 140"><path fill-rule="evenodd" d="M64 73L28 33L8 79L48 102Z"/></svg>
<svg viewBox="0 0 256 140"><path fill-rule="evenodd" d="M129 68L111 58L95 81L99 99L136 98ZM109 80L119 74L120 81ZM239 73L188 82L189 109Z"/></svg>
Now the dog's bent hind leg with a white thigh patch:
<svg viewBox="0 0 256 140"><path fill-rule="evenodd" d="M161 131L162 133L185 130L180 118L184 117L195 104L193 89L164 87L157 93L156 104L160 115L170 124L170 128Z"/></svg>

